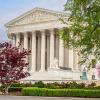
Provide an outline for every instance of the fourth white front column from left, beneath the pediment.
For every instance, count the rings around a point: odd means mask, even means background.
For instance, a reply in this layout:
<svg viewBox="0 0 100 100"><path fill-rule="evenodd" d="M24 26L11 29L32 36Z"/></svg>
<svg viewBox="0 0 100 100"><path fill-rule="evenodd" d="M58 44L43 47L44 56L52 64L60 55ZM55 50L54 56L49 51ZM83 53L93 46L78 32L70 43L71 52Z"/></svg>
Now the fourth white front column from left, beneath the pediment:
<svg viewBox="0 0 100 100"><path fill-rule="evenodd" d="M41 31L41 69L45 71L45 30Z"/></svg>

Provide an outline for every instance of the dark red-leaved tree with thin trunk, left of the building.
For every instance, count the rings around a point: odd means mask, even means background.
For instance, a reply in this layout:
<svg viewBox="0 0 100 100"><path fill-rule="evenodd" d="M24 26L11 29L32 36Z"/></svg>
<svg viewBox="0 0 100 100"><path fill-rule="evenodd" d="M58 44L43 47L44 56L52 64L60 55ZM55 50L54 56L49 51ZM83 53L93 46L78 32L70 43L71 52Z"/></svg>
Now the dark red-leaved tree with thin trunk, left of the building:
<svg viewBox="0 0 100 100"><path fill-rule="evenodd" d="M19 47L13 47L11 43L0 43L0 83L5 85L5 92L11 83L29 76L28 63L26 56L30 55L30 51Z"/></svg>

